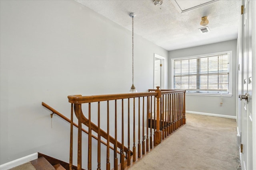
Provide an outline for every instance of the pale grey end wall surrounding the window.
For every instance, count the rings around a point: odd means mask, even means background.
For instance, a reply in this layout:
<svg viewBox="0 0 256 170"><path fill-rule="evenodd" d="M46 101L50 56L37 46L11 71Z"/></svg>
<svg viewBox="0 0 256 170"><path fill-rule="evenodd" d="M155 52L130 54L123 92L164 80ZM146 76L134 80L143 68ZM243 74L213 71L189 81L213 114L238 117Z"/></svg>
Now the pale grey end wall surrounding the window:
<svg viewBox="0 0 256 170"><path fill-rule="evenodd" d="M188 57L195 55L204 55L210 53L217 53L222 51L232 51L232 97L222 97L223 104L220 105L220 96L192 96L186 95L186 111L218 114L224 117L236 116L236 46L237 40L225 41L221 43L214 43L209 45L202 45L198 47L191 47L187 49L178 49L169 51L169 61L174 58ZM170 63L169 63L170 64ZM172 70L169 67L168 72ZM172 84L172 78L169 78L169 88Z"/></svg>

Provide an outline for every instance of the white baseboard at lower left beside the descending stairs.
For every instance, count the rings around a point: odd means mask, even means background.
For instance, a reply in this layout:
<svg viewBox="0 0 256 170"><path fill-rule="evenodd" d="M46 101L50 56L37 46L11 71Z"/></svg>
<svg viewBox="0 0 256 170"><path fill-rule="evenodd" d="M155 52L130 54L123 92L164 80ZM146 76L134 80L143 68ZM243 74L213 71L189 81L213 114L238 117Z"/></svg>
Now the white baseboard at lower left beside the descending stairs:
<svg viewBox="0 0 256 170"><path fill-rule="evenodd" d="M11 162L7 162L5 164L0 165L0 170L8 170L10 168L14 168L16 166L25 164L27 162L30 162L31 160L35 160L38 158L38 152L34 154L30 154L28 156L24 156L22 158L18 158L16 160L13 160Z"/></svg>

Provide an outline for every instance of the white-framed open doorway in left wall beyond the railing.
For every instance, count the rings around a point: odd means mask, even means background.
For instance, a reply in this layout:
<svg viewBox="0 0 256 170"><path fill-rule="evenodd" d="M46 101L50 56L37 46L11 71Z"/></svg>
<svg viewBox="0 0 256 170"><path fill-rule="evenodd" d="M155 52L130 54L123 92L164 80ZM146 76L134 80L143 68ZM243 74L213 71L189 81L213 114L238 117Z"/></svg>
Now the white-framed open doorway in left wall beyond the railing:
<svg viewBox="0 0 256 170"><path fill-rule="evenodd" d="M154 89L159 86L160 89L164 89L164 68L165 58L154 54Z"/></svg>

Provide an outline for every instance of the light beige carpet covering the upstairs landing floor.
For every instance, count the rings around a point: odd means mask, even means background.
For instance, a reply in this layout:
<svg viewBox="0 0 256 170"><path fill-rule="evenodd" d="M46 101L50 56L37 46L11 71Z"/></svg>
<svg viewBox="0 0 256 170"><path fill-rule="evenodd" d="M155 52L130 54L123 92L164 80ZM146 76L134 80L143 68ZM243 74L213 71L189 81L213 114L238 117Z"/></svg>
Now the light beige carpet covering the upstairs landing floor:
<svg viewBox="0 0 256 170"><path fill-rule="evenodd" d="M186 114L183 125L129 170L237 170L236 120Z"/></svg>

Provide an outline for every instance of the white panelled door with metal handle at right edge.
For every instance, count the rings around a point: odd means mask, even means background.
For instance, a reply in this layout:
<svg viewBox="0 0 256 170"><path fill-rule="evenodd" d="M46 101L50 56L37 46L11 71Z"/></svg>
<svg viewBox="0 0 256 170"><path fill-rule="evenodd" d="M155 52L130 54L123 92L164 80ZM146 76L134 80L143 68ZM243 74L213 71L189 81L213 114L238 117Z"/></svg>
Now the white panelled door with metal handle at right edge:
<svg viewBox="0 0 256 170"><path fill-rule="evenodd" d="M241 166L242 170L252 170L252 5L243 0L242 20L242 88L241 115ZM238 84L239 85L239 84ZM239 89L239 87L238 87ZM248 94L246 97L245 94ZM246 99L248 98L248 99Z"/></svg>

